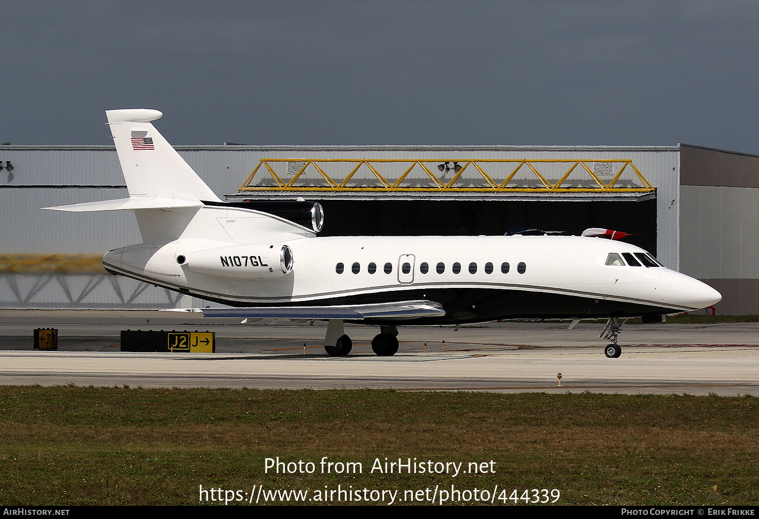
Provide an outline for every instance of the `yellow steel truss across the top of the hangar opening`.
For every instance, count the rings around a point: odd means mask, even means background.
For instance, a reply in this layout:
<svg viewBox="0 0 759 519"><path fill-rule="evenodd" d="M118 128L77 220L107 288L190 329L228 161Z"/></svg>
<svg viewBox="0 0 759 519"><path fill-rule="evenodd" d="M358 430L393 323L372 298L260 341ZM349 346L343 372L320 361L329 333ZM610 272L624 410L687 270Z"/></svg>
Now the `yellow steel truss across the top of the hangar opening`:
<svg viewBox="0 0 759 519"><path fill-rule="evenodd" d="M282 175L282 173L277 174L275 171L275 165L278 162L296 162L300 168L297 172L294 173L294 175L291 175L291 178L285 178L285 175ZM398 178L395 179L387 178L387 175L381 175L379 171L377 171L379 164L391 162L399 165L408 165L408 168L405 168L405 171L402 173L402 175L399 175ZM455 171L455 175L450 180L446 181L445 179L440 178L442 175L435 175L431 171L432 169L437 168L437 165L439 165L441 162L446 164L446 166L449 163L458 165L456 168L458 171ZM595 162L609 163L613 165L614 169L619 169L616 170L616 173L613 174L613 177L610 180L604 181L600 178L599 175L597 175L597 173L594 173L592 167L588 166L589 164L592 165ZM329 166L336 165L337 163L355 164L355 167L350 170L348 175L345 175L344 173L341 174L342 178L338 178L335 173L328 175L325 170L329 171ZM492 171L490 174L486 171L486 169L493 167L493 165L506 165L509 163L515 165L515 168L509 175L501 174L500 176L503 178L499 178L499 175L493 174ZM373 164L378 166L375 167ZM539 168L547 164L565 164L567 165L568 169L560 176L556 175L556 171L553 172L553 175L546 175L545 173L541 174ZM376 178L379 186L367 185L368 183L366 179L364 179L363 182L361 179L354 180L356 172L361 168L362 165L365 165L369 171L371 171L371 175ZM427 165L433 165L433 167L430 168L427 167ZM273 183L264 181L263 183L254 185L254 178L257 172L259 170L262 170L262 166L263 170L269 171L269 175L271 175ZM308 183L310 185L304 185L306 184L304 181L301 181L301 183L299 183L298 181L301 178L305 178L304 173L307 171L307 168L309 166L312 168L310 171L317 171L317 178L309 178ZM417 166L422 171L424 171L424 175L427 175L430 181L430 185L426 187L420 187L408 184L408 175ZM580 166L580 169L578 170L581 173L581 175L579 175L580 178L582 181L587 182L588 185L565 187L563 184L565 181L567 181L569 176L572 175L572 172L578 168L578 166ZM525 167L528 168L534 175L533 181L535 179L539 181L539 186L524 187L515 185L518 184L518 182L515 181L515 175L517 175L518 172ZM487 183L487 187L473 187L463 185L465 182L462 181L462 174L467 170L467 168L476 169L477 174L474 176L477 177L477 175L480 175L485 183ZM630 175L630 177L634 180L637 179L637 186L622 187L617 185L619 178L627 168L629 168L629 170L634 173L634 175ZM452 168L449 168L449 170L446 170L446 172L451 170ZM422 176L424 177L424 175ZM550 178L552 176L553 179ZM522 180L524 183L524 179ZM407 182L406 185L404 184L405 181ZM468 178L468 182L471 183L471 178ZM628 184L629 183L630 182L628 181ZM426 191L448 193L651 193L655 190L656 188L653 187L644 178L643 175L641 175L641 172L638 171L638 168L635 167L630 159L477 159L458 161L413 159L261 159L259 164L253 170L253 172L250 173L250 176L248 176L247 180L240 187L240 191Z"/></svg>

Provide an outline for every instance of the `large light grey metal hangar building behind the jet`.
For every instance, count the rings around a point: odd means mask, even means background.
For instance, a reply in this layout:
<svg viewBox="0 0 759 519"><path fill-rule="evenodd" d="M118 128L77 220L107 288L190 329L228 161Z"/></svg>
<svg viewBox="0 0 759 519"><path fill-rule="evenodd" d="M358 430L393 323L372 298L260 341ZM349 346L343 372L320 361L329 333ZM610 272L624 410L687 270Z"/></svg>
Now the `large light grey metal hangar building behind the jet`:
<svg viewBox="0 0 759 519"><path fill-rule="evenodd" d="M686 144L176 149L228 200L322 203L320 235L615 229L722 292L719 313L759 313L759 156ZM134 215L39 209L127 197L113 146L4 145L0 165L0 307L208 304L102 269L107 250L140 243Z"/></svg>

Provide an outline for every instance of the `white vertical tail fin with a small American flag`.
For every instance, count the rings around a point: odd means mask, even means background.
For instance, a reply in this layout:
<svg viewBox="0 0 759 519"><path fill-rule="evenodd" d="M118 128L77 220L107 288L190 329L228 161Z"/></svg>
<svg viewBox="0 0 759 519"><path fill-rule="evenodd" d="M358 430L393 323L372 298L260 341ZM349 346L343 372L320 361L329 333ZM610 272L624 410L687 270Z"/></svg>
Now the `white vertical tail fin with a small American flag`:
<svg viewBox="0 0 759 519"><path fill-rule="evenodd" d="M158 110L107 110L121 170L131 198L220 202L150 121Z"/></svg>

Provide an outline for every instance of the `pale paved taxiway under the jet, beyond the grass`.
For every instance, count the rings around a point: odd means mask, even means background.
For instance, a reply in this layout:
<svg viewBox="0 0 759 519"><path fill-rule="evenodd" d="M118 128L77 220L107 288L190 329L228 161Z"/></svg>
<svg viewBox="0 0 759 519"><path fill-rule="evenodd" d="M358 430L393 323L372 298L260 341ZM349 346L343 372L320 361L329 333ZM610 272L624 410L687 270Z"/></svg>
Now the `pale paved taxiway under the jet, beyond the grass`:
<svg viewBox="0 0 759 519"><path fill-rule="evenodd" d="M34 351L34 328L58 351ZM759 396L759 323L631 325L607 359L600 322L502 322L399 329L398 354L376 357L376 328L346 326L348 357L326 356L325 326L141 311L0 311L0 384L131 387L392 388ZM216 332L214 354L122 353L122 329ZM561 386L557 373L562 373Z"/></svg>

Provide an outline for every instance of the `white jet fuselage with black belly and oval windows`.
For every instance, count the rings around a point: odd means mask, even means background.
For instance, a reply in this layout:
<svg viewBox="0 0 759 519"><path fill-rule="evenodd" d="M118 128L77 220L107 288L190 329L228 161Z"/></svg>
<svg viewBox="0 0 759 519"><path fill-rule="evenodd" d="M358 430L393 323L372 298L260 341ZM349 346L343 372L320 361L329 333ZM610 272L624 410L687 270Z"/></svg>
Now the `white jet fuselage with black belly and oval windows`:
<svg viewBox="0 0 759 519"><path fill-rule="evenodd" d="M287 273L282 246L292 256ZM560 236L301 237L276 244L179 239L114 250L103 263L238 307L424 299L446 309L444 317L402 319L408 324L640 316L694 310L715 298L707 285L661 266L606 265L609 253L645 252L619 241Z"/></svg>

